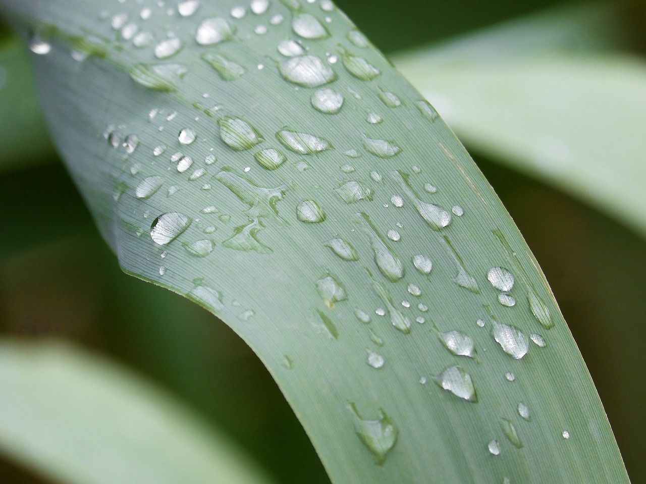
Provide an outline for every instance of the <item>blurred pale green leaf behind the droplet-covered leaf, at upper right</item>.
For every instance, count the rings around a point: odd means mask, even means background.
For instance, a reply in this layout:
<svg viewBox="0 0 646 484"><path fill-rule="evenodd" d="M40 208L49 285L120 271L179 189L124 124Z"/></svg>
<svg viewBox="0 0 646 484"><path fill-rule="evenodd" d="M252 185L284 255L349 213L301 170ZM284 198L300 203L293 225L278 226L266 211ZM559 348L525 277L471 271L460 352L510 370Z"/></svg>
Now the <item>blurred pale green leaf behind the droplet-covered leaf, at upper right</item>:
<svg viewBox="0 0 646 484"><path fill-rule="evenodd" d="M625 51L635 25L643 8L556 10L395 63L475 151L646 235L646 70Z"/></svg>

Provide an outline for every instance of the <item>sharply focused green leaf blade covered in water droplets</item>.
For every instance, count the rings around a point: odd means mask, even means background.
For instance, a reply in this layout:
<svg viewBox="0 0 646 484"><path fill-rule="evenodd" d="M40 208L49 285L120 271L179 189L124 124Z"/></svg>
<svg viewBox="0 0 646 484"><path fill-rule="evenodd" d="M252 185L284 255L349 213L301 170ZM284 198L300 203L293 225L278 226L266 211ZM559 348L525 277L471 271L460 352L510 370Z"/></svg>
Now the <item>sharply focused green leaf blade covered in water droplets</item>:
<svg viewBox="0 0 646 484"><path fill-rule="evenodd" d="M43 105L123 269L245 339L333 482L627 482L512 220L331 3L2 3L52 47Z"/></svg>

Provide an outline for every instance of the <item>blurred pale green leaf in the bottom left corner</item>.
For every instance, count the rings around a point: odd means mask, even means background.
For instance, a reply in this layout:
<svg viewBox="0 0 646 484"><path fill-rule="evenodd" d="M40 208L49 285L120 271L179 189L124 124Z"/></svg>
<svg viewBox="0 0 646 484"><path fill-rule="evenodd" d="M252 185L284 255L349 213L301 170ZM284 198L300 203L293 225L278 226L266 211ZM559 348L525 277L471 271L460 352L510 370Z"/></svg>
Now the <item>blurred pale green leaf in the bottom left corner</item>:
<svg viewBox="0 0 646 484"><path fill-rule="evenodd" d="M0 448L65 483L264 484L227 438L96 355L57 342L0 341Z"/></svg>

